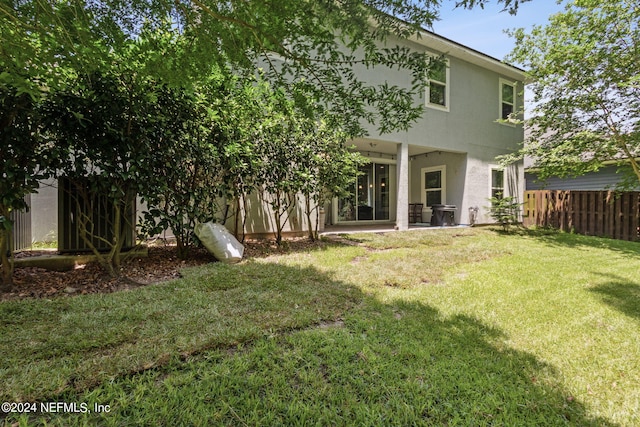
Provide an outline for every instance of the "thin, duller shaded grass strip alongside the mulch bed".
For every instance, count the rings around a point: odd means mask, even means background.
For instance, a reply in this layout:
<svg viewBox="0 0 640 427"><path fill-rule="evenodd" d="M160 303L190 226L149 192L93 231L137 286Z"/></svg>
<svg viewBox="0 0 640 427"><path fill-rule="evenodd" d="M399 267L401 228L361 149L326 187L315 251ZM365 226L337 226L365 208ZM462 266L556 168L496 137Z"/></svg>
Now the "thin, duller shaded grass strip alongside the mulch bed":
<svg viewBox="0 0 640 427"><path fill-rule="evenodd" d="M335 320L362 300L313 267L212 263L184 274L126 292L0 302L0 401L58 401L172 358Z"/></svg>

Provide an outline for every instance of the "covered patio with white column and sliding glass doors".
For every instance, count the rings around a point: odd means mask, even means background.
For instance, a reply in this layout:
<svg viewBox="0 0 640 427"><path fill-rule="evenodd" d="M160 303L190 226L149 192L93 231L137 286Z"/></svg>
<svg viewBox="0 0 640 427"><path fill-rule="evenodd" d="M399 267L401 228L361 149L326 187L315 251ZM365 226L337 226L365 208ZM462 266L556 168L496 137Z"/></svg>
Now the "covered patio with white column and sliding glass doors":
<svg viewBox="0 0 640 427"><path fill-rule="evenodd" d="M466 153L369 138L353 145L370 163L354 177L349 196L327 210L329 228L424 228L435 206L448 210L445 225L469 223L462 214Z"/></svg>

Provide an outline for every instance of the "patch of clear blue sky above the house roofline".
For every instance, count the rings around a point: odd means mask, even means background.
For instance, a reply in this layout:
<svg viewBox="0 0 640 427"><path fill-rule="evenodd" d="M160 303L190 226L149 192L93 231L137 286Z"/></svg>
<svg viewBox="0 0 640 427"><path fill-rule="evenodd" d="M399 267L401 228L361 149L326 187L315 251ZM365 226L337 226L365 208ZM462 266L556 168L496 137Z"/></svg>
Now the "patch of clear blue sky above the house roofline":
<svg viewBox="0 0 640 427"><path fill-rule="evenodd" d="M454 0L442 1L441 19L433 24L434 32L497 59L504 59L514 46L514 40L503 30L545 25L550 15L564 9L556 0L531 0L522 3L514 16L501 12L497 0L484 9L454 10L454 5Z"/></svg>

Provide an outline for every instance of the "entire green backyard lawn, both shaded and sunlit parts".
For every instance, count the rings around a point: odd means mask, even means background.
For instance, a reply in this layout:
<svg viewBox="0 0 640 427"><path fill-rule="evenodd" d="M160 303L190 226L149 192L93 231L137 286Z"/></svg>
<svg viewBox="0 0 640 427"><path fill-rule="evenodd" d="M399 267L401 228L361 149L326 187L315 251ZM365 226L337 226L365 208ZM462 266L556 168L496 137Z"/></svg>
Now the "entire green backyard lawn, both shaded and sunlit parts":
<svg viewBox="0 0 640 427"><path fill-rule="evenodd" d="M344 240L118 294L0 303L0 400L91 411L0 423L640 425L639 243L488 229Z"/></svg>

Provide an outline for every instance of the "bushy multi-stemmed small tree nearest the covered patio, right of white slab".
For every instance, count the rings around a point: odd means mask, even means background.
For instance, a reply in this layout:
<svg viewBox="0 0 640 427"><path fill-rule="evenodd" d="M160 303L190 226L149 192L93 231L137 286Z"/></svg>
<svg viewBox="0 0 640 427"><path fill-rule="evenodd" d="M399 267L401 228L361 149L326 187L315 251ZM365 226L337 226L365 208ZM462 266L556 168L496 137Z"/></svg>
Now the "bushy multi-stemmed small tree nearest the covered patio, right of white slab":
<svg viewBox="0 0 640 427"><path fill-rule="evenodd" d="M344 191L360 156L348 150L345 124L298 92L296 102L264 80L231 79L219 99L213 143L220 153L221 195L235 207L236 229L246 218L246 197L257 194L271 207L278 243L292 213L311 215L328 197ZM304 102L302 101L304 100ZM313 236L313 230L310 236Z"/></svg>

